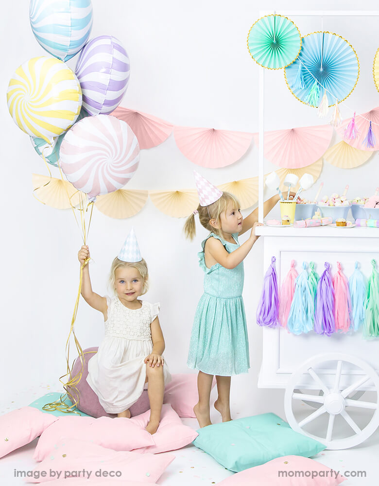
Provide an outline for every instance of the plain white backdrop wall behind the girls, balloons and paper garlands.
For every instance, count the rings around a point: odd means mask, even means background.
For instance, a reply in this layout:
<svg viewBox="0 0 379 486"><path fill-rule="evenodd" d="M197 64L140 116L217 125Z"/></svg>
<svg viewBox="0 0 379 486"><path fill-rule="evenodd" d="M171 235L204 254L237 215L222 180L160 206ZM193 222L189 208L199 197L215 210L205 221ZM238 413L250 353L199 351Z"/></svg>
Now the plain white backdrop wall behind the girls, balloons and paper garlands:
<svg viewBox="0 0 379 486"><path fill-rule="evenodd" d="M246 37L258 18L259 4L247 0L92 0L91 37L114 35L131 60L131 77L122 106L151 113L177 125L258 131L258 66L246 49ZM278 10L279 2L265 8ZM280 2L282 3L282 2ZM366 0L366 9L377 2ZM0 110L2 163L0 340L1 383L4 401L19 390L40 384L54 386L65 370L65 343L78 289L77 251L80 234L69 210L56 210L32 195L32 173L46 174L43 160L29 137L13 123L6 106L6 88L14 70L25 60L46 52L34 39L28 17L29 1L7 3L1 18L2 93ZM263 6L263 3L261 4ZM288 0L287 9L302 9L303 1ZM319 0L308 8L354 9L352 0ZM379 104L372 79L372 62L379 45L378 18L292 17L306 35L322 30L345 37L358 53L361 74L357 87L342 107L343 118ZM74 67L76 58L69 61ZM283 71L266 71L266 129L324 124L316 110L299 103L284 82ZM337 139L338 141L338 139ZM272 166L267 163L265 172ZM144 150L130 189L194 188L193 169L215 184L258 174L258 150L252 147L235 164L202 169L187 160L171 136L158 147ZM57 173L53 171L53 175ZM358 169L344 171L324 164L320 181L324 193L371 195L379 185L378 154ZM248 213L249 211L245 211ZM197 265L200 242L207 232L198 226L194 242L182 234L184 220L159 212L151 201L136 216L110 219L94 209L88 244L95 291L106 293L110 263L131 226L150 270L151 287L145 296L161 303L160 320L166 339L166 359L172 372L186 372L192 318L202 293L202 271ZM242 237L243 241L243 237ZM261 290L262 241L245 260L244 298L249 326L251 370L233 381L236 403L240 390L251 413L275 411L282 415L282 391L257 390L261 361L261 330L255 312ZM82 347L97 346L103 337L102 315L81 301L76 333ZM242 393L242 392L241 392Z"/></svg>

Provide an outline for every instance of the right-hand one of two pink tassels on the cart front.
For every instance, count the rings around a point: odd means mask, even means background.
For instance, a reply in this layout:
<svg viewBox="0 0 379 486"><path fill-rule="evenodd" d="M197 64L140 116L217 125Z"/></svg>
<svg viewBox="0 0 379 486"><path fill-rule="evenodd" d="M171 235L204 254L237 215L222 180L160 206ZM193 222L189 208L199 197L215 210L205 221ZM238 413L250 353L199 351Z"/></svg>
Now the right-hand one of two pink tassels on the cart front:
<svg viewBox="0 0 379 486"><path fill-rule="evenodd" d="M341 263L337 261L338 271L333 277L334 320L336 331L347 332L352 326L349 281L342 273Z"/></svg>

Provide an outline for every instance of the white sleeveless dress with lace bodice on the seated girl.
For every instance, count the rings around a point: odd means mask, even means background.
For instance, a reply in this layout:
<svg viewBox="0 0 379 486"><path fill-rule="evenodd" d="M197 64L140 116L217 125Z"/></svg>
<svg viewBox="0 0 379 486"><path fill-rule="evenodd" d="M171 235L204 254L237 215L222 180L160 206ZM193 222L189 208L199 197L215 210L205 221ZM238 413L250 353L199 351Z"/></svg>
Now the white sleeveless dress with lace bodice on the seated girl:
<svg viewBox="0 0 379 486"><path fill-rule="evenodd" d="M153 350L150 324L159 312L159 304L143 300L140 309L128 309L118 297L106 296L106 301L105 338L88 361L87 382L105 412L117 414L133 405L143 392L143 361ZM171 381L166 362L163 373L166 384Z"/></svg>

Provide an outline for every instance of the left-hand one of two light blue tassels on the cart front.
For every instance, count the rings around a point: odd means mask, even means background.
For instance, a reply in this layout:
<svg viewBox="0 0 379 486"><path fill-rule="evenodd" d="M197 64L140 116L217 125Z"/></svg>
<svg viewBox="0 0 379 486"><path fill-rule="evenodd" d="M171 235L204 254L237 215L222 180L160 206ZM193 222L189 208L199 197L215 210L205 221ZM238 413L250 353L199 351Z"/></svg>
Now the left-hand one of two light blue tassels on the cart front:
<svg viewBox="0 0 379 486"><path fill-rule="evenodd" d="M314 301L308 284L307 263L296 278L295 293L287 321L287 329L293 334L309 332L313 329Z"/></svg>

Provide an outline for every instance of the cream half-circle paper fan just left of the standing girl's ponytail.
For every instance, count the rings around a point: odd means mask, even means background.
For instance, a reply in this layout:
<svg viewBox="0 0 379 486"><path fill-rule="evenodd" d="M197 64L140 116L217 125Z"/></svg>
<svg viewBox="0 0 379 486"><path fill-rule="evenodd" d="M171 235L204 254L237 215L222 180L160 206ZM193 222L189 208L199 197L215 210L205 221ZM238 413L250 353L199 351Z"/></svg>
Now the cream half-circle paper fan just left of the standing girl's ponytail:
<svg viewBox="0 0 379 486"><path fill-rule="evenodd" d="M185 218L199 205L196 190L181 191L149 191L154 206L168 216Z"/></svg>

